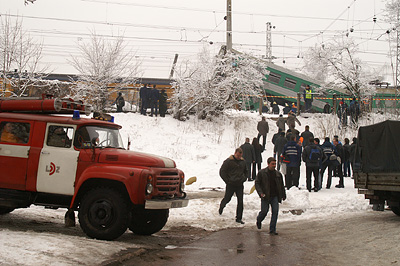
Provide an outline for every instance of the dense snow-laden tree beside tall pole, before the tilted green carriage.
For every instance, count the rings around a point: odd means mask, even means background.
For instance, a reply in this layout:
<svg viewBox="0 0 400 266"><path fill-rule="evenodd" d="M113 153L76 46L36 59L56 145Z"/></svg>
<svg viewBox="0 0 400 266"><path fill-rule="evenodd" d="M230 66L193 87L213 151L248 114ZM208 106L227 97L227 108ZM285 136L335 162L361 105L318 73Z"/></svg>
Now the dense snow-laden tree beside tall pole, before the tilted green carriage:
<svg viewBox="0 0 400 266"><path fill-rule="evenodd" d="M196 63L186 62L177 71L172 98L174 117L189 113L200 118L243 106L251 95L262 93L259 62L246 54L227 52L210 56L204 48Z"/></svg>

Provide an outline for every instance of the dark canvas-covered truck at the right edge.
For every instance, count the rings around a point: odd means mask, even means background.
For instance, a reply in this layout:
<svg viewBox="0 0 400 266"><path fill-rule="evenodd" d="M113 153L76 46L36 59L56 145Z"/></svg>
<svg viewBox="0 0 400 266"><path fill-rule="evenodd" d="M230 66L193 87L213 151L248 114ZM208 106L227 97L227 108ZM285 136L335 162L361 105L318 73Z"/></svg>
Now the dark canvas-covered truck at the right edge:
<svg viewBox="0 0 400 266"><path fill-rule="evenodd" d="M400 216L400 121L360 127L353 166L358 193Z"/></svg>

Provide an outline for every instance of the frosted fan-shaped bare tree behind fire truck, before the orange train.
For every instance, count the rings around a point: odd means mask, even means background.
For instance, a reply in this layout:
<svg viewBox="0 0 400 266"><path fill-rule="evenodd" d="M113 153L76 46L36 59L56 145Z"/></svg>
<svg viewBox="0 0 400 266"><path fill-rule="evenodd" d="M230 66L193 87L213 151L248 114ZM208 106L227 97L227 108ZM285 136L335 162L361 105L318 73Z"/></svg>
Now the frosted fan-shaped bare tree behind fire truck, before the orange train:
<svg viewBox="0 0 400 266"><path fill-rule="evenodd" d="M114 89L135 83L140 62L135 53L126 52L122 36L107 40L95 32L88 42L79 42L80 56L72 56L70 63L79 72L74 96L86 98L96 110L104 110Z"/></svg>

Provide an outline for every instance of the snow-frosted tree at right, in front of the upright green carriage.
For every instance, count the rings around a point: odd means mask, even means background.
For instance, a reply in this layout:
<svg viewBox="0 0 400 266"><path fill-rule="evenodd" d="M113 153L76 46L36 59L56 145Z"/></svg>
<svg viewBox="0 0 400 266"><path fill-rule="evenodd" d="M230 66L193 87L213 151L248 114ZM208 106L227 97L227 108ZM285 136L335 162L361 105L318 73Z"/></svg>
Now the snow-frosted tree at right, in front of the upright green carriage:
<svg viewBox="0 0 400 266"><path fill-rule="evenodd" d="M357 52L357 45L347 37L316 45L305 54L305 72L325 81L323 89L342 88L357 98L371 95L374 88L369 82L378 76L368 71L367 65L356 57Z"/></svg>

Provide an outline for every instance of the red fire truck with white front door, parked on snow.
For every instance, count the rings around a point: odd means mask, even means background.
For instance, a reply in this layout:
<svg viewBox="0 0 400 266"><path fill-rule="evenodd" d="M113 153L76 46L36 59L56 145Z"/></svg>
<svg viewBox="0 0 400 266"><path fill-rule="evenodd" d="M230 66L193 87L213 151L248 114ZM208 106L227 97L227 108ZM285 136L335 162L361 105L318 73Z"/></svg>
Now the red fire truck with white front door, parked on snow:
<svg viewBox="0 0 400 266"><path fill-rule="evenodd" d="M188 205L183 172L171 159L126 150L111 116L81 112L90 106L71 99L0 99L0 214L66 208L67 226L77 211L83 231L103 240L127 228L160 231L169 208Z"/></svg>

